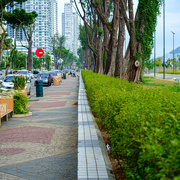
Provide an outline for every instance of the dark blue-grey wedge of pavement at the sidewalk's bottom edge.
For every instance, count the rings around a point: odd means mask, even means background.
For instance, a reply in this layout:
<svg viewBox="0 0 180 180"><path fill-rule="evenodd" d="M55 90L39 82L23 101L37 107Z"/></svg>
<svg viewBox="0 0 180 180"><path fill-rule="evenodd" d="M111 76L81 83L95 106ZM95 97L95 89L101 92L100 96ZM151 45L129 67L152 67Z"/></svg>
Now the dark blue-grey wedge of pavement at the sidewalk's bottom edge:
<svg viewBox="0 0 180 180"><path fill-rule="evenodd" d="M77 152L0 167L0 172L29 180L75 180Z"/></svg>

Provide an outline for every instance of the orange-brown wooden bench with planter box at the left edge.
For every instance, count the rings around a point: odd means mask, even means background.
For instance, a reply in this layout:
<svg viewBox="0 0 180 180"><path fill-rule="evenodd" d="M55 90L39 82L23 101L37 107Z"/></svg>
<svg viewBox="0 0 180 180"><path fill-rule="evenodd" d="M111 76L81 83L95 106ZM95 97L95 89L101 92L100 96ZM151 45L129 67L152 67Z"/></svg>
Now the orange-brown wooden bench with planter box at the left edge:
<svg viewBox="0 0 180 180"><path fill-rule="evenodd" d="M0 95L0 116L1 120L5 117L6 121L8 121L8 117L13 115L13 96L3 94ZM0 126L1 126L0 120Z"/></svg>

